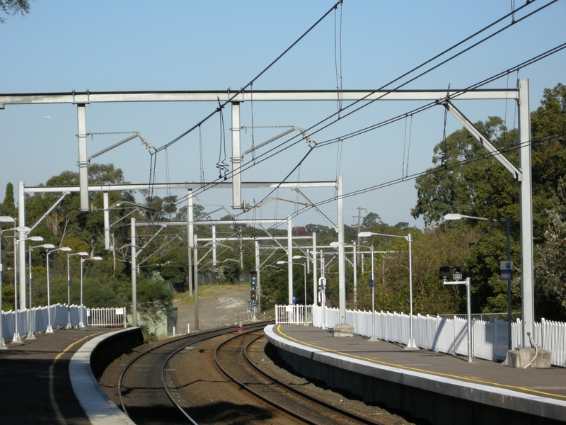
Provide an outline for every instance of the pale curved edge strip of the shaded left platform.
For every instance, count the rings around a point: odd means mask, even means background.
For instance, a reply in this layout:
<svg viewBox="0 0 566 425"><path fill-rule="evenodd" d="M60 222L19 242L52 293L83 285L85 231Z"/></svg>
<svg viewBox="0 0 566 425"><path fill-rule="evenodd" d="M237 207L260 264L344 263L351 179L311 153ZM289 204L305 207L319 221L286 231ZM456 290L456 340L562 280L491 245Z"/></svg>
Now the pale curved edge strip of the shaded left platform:
<svg viewBox="0 0 566 425"><path fill-rule="evenodd" d="M122 412L120 407L112 402L102 387L98 385L91 369L91 353L94 348L101 341L115 334L128 331L138 331L138 328L122 329L96 336L79 348L69 363L69 375L73 391L93 425L134 425L134 422Z"/></svg>

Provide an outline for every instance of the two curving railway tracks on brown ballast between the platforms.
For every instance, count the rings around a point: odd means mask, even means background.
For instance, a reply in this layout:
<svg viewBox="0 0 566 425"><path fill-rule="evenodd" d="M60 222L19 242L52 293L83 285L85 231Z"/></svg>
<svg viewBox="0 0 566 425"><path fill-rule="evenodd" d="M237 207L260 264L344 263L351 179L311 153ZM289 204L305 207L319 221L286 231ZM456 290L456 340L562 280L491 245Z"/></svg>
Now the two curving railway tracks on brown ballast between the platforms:
<svg viewBox="0 0 566 425"><path fill-rule="evenodd" d="M122 410L137 425L379 424L258 368L248 351L263 350L257 341L266 324L183 336L140 353L118 380Z"/></svg>

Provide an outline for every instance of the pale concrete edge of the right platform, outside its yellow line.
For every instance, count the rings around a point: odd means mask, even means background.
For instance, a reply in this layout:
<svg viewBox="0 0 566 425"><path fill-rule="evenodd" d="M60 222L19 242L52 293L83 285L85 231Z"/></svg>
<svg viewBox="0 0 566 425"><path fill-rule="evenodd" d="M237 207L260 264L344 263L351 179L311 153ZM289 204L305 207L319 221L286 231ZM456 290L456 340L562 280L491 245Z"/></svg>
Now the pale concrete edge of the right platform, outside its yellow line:
<svg viewBox="0 0 566 425"><path fill-rule="evenodd" d="M426 373L418 373L403 368L394 368L388 365L379 365L370 361L350 358L337 353L320 351L318 348L309 347L308 345L298 344L289 339L285 339L275 332L275 326L276 325L269 325L265 328L267 340L278 348L294 353L297 356L331 365L342 370L395 382L400 385L408 385L409 387L415 387L420 390L465 399L470 402L514 412L566 421L566 402L561 400L538 395L529 395L504 388L494 388L473 382L463 382Z"/></svg>

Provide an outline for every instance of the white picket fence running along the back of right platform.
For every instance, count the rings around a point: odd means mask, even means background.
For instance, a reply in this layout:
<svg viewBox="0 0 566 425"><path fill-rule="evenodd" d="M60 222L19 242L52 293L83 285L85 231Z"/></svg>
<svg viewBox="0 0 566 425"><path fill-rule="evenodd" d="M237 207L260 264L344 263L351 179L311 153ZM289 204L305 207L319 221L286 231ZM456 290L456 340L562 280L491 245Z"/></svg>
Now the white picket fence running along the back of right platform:
<svg viewBox="0 0 566 425"><path fill-rule="evenodd" d="M301 324L299 310L303 306L276 306L275 322L281 324ZM308 306L313 326L333 328L340 323L340 311L336 308ZM410 317L404 313L371 312L346 310L346 323L354 328L354 334L371 336L371 318L375 319L375 336L383 341L408 344L410 339ZM309 322L310 323L310 322ZM485 322L473 319L472 356L490 361L503 361L507 357L507 322L495 320ZM439 353L468 355L467 320L461 317L449 319L439 316L412 317L412 331L415 344ZM523 345L521 320L511 324L512 347ZM566 323L543 319L535 323L533 340L539 348L550 351L550 362L555 366L566 367Z"/></svg>

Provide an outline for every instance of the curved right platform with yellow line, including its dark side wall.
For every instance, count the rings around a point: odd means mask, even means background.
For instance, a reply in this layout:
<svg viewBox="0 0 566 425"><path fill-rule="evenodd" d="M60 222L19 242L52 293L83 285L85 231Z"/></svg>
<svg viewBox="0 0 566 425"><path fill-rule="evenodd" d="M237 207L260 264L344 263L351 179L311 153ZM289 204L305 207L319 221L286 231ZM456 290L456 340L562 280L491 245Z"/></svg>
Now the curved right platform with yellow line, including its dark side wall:
<svg viewBox="0 0 566 425"><path fill-rule="evenodd" d="M304 325L271 325L265 335L299 373L434 424L499 423L492 416L502 415L521 416L516 423L566 421L565 368L516 369L476 358L468 363L467 357L357 335L334 337L330 329Z"/></svg>

